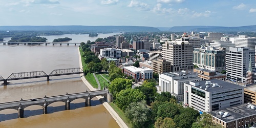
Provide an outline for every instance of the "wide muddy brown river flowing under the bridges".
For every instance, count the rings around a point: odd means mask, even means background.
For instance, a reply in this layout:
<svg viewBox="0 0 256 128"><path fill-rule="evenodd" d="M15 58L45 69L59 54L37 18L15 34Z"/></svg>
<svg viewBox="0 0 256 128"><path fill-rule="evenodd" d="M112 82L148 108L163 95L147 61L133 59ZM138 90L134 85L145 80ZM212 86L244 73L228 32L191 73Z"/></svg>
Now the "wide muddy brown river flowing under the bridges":
<svg viewBox="0 0 256 128"><path fill-rule="evenodd" d="M100 34L99 34L100 35ZM102 34L108 37L114 33ZM78 39L75 36L80 36ZM53 36L51 36L53 37ZM57 35L55 38L69 37L72 42L95 41L98 37L83 35ZM46 36L48 39L50 36ZM5 38L8 39L8 38ZM75 41L76 40L76 41ZM78 46L45 45L0 45L0 75L7 78L11 73L44 71L50 74L54 69L79 67ZM8 86L0 86L0 102L34 99L46 96L78 93L89 90L80 75L67 75L46 78L34 78L9 81ZM71 102L71 110L65 111L64 102L48 105L48 114L42 114L39 105L24 109L24 118L17 119L17 110L0 111L0 127L119 127L110 113L96 98L92 106L84 107L84 99Z"/></svg>

